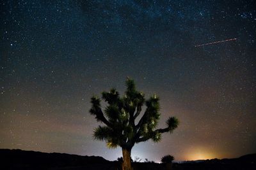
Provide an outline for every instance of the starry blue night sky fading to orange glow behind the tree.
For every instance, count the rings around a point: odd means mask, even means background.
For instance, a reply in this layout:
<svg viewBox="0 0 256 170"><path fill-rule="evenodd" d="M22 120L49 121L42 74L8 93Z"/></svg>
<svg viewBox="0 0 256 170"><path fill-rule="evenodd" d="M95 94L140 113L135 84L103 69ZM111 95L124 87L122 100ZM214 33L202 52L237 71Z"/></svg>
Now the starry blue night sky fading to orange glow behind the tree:
<svg viewBox="0 0 256 170"><path fill-rule="evenodd" d="M90 97L129 76L161 120L135 156L159 161L256 152L255 1L1 1L0 148L122 156L93 141ZM216 44L214 41L237 38Z"/></svg>

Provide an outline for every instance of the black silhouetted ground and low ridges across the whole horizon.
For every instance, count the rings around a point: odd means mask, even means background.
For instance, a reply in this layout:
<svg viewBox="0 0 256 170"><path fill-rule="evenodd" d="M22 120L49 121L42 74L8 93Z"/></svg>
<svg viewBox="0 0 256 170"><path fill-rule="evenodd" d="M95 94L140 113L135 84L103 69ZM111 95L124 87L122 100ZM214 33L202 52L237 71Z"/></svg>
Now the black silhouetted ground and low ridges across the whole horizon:
<svg viewBox="0 0 256 170"><path fill-rule="evenodd" d="M80 156L67 153L43 153L24 150L0 149L0 169L49 169L49 170L118 170L122 169L121 162L109 161L102 157ZM134 170L250 170L256 169L256 153L244 155L235 159L194 160L180 163L157 164L154 162L132 162Z"/></svg>

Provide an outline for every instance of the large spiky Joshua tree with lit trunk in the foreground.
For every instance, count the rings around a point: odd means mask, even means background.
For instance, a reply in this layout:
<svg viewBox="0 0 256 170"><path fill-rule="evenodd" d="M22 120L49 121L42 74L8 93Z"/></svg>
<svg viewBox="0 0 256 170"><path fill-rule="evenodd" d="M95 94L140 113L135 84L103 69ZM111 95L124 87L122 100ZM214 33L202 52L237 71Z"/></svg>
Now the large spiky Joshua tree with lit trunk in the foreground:
<svg viewBox="0 0 256 170"><path fill-rule="evenodd" d="M170 117L166 121L166 128L156 129L160 117L159 97L155 94L145 100L145 95L136 90L133 80L127 78L125 83L127 89L124 97L120 97L116 89L102 92L102 99L107 104L103 111L100 99L92 97L90 113L95 116L97 121L105 124L94 129L94 139L106 141L108 148L120 146L124 158L122 169L131 170L132 147L136 143L145 142L148 139L159 142L161 134L172 133L177 128L179 121L175 117ZM143 104L147 108L136 124L135 120L141 114Z"/></svg>

